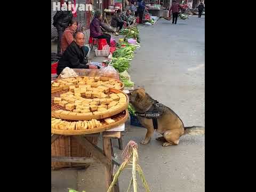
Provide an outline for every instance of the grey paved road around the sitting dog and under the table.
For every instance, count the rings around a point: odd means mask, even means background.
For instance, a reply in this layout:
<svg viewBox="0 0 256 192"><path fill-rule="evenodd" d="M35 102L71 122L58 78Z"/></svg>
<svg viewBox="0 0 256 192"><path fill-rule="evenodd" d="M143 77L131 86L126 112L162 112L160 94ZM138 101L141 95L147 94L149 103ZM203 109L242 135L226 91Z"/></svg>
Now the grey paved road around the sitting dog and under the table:
<svg viewBox="0 0 256 192"><path fill-rule="evenodd" d="M178 20L177 25L159 20L154 26L141 27L141 48L130 69L132 81L145 86L151 97L173 109L185 126L205 125L204 27L204 15L201 19L193 16L186 21ZM130 140L139 144L146 134L146 129L130 126L129 122L126 122L126 131L124 145ZM155 140L157 136L155 134L146 146L139 144L139 161L150 191L205 191L204 136L186 135L178 146L169 147L162 147L162 143ZM120 157L122 151L117 149L117 141L113 141L113 145ZM129 171L121 175L122 192L126 191L130 176ZM52 172L52 191L65 191L63 188L73 186L86 192L103 191L100 190L103 181L99 165L65 174ZM139 191L143 191L139 179L138 183Z"/></svg>

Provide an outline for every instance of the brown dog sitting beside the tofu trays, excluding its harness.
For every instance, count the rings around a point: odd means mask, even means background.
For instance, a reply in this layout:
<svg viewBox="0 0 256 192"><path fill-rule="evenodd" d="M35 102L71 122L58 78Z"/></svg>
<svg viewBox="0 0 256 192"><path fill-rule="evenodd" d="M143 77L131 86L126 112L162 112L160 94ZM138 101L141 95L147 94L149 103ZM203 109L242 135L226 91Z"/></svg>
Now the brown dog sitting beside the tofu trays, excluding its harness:
<svg viewBox="0 0 256 192"><path fill-rule="evenodd" d="M156 100L152 99L144 89L136 89L129 94L130 103L134 107L135 111L139 114L145 114L145 112L153 111L156 105ZM161 117L157 118L157 132L161 133L163 137L159 137L156 140L161 140L163 146L178 145L181 135L184 134L204 134L204 127L191 126L184 127L180 117L174 113L169 107L161 105ZM157 104L157 106L159 106ZM147 144L154 134L154 125L151 118L145 118L138 116L138 119L144 127L147 128L147 134L144 140L141 141L142 145Z"/></svg>

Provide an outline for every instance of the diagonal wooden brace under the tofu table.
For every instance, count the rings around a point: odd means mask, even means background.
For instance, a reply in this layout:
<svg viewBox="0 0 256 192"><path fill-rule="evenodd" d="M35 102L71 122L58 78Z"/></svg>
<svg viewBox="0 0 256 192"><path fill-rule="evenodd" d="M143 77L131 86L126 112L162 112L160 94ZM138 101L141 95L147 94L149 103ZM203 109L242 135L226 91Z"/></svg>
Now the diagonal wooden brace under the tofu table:
<svg viewBox="0 0 256 192"><path fill-rule="evenodd" d="M95 148L95 146L92 143L90 143L87 139L85 139L83 136L74 135L73 137L82 145L83 148L92 153L93 156L97 158L103 165L105 165L106 167L111 165L111 158L110 160L106 158L106 156L103 155L100 150Z"/></svg>

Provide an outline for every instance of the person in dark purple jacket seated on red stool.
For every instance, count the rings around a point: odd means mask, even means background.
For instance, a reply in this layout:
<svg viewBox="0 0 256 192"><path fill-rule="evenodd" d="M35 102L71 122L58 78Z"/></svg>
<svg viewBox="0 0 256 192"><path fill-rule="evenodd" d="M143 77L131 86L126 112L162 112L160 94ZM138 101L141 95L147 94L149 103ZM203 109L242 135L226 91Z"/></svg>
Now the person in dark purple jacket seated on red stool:
<svg viewBox="0 0 256 192"><path fill-rule="evenodd" d="M90 37L98 38L98 39L105 38L105 39L107 39L107 43L110 46L111 35L103 33L101 28L105 29L106 31L108 31L110 33L114 33L113 29L110 29L107 25L105 25L102 22L101 12L95 11L94 19L92 20L91 25L90 25Z"/></svg>

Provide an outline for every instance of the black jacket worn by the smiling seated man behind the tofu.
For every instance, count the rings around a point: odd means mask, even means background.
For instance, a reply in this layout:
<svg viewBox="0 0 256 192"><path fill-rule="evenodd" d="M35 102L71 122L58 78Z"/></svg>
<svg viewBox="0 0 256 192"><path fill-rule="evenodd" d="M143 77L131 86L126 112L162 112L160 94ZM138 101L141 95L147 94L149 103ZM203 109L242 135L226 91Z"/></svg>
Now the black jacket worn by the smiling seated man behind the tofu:
<svg viewBox="0 0 256 192"><path fill-rule="evenodd" d="M59 75L65 67L88 69L89 65L86 65L87 62L85 60L88 51L86 52L84 47L80 48L76 42L73 41L62 54L58 62L57 75Z"/></svg>

